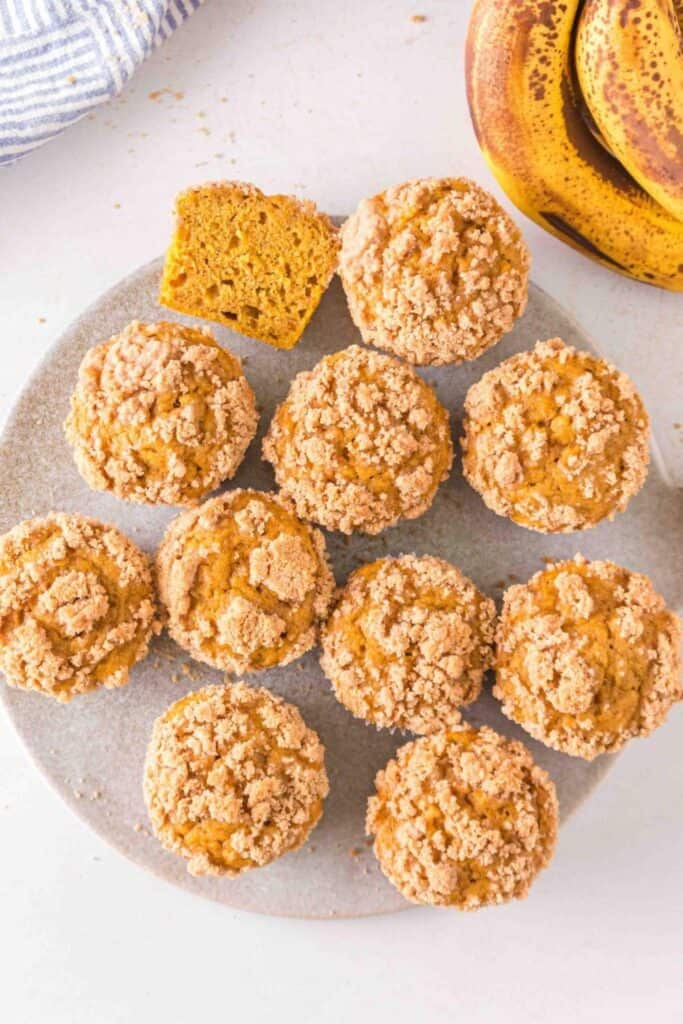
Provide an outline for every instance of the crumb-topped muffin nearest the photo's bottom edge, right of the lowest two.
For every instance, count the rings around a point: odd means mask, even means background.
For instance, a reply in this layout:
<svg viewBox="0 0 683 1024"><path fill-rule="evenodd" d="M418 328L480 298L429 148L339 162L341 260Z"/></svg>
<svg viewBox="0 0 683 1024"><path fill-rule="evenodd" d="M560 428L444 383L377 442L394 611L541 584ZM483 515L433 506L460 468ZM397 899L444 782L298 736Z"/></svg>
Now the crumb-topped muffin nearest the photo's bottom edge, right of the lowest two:
<svg viewBox="0 0 683 1024"><path fill-rule="evenodd" d="M493 729L407 743L375 785L375 855L414 903L476 910L519 899L551 860L555 786L525 746Z"/></svg>

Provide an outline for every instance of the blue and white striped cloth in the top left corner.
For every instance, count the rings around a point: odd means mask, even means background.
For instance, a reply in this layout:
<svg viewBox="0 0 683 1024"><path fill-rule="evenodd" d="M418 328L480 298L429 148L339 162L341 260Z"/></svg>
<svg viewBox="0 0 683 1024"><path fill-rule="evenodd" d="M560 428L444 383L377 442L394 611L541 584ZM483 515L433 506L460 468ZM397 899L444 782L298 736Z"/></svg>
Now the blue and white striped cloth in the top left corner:
<svg viewBox="0 0 683 1024"><path fill-rule="evenodd" d="M203 0L0 0L0 164L121 92Z"/></svg>

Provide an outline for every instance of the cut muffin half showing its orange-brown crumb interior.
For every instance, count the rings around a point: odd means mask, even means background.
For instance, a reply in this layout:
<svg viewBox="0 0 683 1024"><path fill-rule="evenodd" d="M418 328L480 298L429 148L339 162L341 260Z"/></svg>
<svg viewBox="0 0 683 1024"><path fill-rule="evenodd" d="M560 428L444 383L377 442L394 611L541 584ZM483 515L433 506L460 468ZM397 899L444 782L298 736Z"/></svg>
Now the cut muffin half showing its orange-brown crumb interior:
<svg viewBox="0 0 683 1024"><path fill-rule="evenodd" d="M275 348L293 348L337 267L339 237L313 203L243 181L188 188L159 301Z"/></svg>

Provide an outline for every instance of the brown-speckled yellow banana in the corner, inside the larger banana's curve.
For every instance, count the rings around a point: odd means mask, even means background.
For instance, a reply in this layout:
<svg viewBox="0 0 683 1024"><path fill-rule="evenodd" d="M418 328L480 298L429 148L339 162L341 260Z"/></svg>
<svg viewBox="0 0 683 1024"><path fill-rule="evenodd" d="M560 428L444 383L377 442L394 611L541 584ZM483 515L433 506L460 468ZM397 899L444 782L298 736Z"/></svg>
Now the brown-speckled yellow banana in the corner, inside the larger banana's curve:
<svg viewBox="0 0 683 1024"><path fill-rule="evenodd" d="M575 62L610 151L683 220L683 35L673 0L585 0Z"/></svg>

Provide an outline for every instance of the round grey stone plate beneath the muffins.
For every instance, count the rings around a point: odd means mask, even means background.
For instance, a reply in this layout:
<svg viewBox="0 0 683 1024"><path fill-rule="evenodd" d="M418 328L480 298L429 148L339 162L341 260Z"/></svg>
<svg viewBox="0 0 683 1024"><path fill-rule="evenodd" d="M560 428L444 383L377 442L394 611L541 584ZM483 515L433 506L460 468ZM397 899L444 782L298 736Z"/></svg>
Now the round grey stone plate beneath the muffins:
<svg viewBox="0 0 683 1024"><path fill-rule="evenodd" d="M161 267L161 260L142 267L100 298L67 331L25 388L0 446L0 531L55 509L114 522L144 550L155 550L176 510L127 505L89 490L76 470L61 423L78 366L91 345L134 318L193 322L158 305ZM243 357L261 409L259 437L230 485L271 488L270 468L260 459L260 436L276 402L285 397L296 373L359 340L342 290L335 280L293 351L278 351L217 325L213 330L221 343ZM469 385L506 356L554 335L591 347L566 312L531 287L526 313L494 350L473 364L423 372L453 414L455 437ZM650 573L676 605L681 603L683 572L672 560L671 539L680 526L679 503L680 497L652 466L646 486L615 522L586 535L546 537L489 512L463 480L456 459L451 478L422 518L377 538L328 535L328 542L338 582L362 561L431 552L459 565L499 599L506 586L526 580L545 559L581 550ZM380 872L364 837L366 801L375 773L409 737L379 732L352 718L336 701L316 652L250 677L250 682L270 687L298 705L326 745L331 794L310 841L268 867L234 880L191 878L182 860L162 849L148 829L140 785L152 724L173 700L221 678L162 637L123 689L80 696L71 705L6 686L2 697L30 754L70 807L118 850L168 882L228 906L270 914L355 916L409 906ZM501 715L488 689L467 711L467 718L527 743L555 780L563 819L610 767L612 759L602 757L589 764L529 739Z"/></svg>

